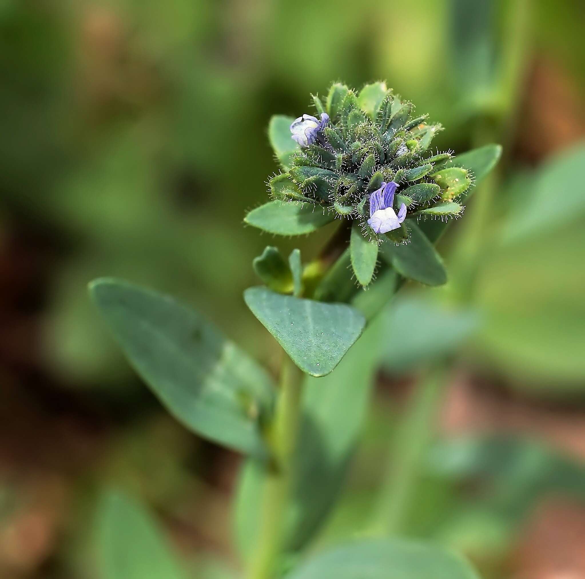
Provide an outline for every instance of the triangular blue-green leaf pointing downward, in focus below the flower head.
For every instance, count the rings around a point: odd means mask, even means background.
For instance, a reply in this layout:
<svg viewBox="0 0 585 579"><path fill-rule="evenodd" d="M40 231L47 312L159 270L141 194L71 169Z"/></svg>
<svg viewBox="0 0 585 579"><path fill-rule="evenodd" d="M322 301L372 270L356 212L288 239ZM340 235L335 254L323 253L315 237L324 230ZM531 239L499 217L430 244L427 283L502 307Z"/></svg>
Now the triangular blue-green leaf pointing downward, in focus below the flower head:
<svg viewBox="0 0 585 579"><path fill-rule="evenodd" d="M329 374L366 324L361 313L345 304L323 304L262 287L246 289L244 299L292 361L313 376Z"/></svg>

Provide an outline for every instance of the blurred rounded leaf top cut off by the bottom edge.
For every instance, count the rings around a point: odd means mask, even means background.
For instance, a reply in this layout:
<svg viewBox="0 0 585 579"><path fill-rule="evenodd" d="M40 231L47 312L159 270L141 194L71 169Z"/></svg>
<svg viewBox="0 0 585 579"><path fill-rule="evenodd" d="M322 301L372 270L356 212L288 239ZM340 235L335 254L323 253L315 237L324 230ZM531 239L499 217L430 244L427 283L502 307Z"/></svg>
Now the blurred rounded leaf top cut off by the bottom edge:
<svg viewBox="0 0 585 579"><path fill-rule="evenodd" d="M479 579L460 557L424 543L365 539L321 553L289 579Z"/></svg>

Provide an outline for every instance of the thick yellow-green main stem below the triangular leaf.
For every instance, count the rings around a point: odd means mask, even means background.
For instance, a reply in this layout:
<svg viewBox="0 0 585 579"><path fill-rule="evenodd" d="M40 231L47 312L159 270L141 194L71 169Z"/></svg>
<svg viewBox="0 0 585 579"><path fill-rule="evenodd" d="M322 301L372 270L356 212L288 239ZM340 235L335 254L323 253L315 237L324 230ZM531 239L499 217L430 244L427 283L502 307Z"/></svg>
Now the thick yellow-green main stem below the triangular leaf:
<svg viewBox="0 0 585 579"><path fill-rule="evenodd" d="M290 496L292 458L301 409L299 378L297 367L284 354L271 441L274 454L264 480L260 533L247 573L249 579L269 579L283 547L284 518Z"/></svg>

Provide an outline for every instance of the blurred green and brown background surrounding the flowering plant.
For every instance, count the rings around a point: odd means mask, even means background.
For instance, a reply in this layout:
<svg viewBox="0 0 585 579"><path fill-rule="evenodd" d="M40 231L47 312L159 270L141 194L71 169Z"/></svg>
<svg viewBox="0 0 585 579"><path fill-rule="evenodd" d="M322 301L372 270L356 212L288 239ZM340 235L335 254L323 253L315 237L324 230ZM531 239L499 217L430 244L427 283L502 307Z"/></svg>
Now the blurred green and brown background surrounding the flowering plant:
<svg viewBox="0 0 585 579"><path fill-rule="evenodd" d="M383 313L379 404L319 542L359 530L412 375L449 353L408 533L486 577L585 577L584 24L579 0L2 0L0 576L99 579L109 484L158 513L194 577L237 569L238 457L167 416L85 287L177 295L274 370L242 300L275 243L242 223L277 169L267 123L333 80L387 80L443 123L439 148L504 156L441 243L456 280L476 276L479 321L454 353L424 309L449 288L406 288ZM332 232L276 243L309 260Z"/></svg>

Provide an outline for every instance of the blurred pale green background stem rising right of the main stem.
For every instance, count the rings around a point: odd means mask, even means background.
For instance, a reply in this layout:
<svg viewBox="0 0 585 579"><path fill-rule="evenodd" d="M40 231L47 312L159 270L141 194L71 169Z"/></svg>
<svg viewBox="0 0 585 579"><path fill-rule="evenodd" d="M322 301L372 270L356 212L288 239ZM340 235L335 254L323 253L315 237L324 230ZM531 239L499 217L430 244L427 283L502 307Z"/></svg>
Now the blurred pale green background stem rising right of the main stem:
<svg viewBox="0 0 585 579"><path fill-rule="evenodd" d="M417 382L407 412L390 445L386 481L376 512L376 528L386 534L397 535L403 530L412 491L433 434L444 385L442 367Z"/></svg>

